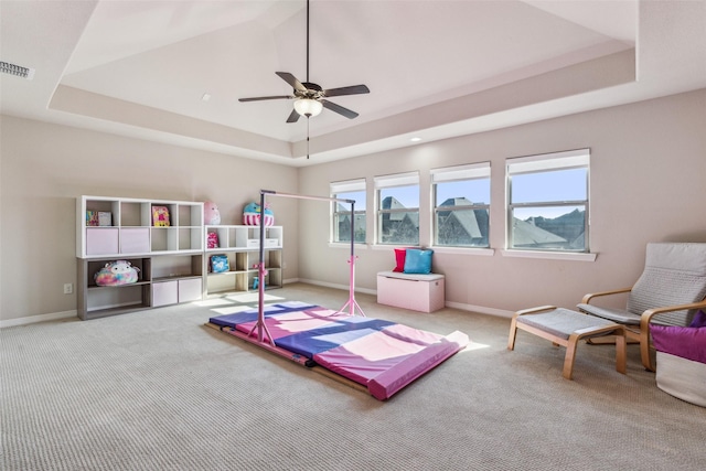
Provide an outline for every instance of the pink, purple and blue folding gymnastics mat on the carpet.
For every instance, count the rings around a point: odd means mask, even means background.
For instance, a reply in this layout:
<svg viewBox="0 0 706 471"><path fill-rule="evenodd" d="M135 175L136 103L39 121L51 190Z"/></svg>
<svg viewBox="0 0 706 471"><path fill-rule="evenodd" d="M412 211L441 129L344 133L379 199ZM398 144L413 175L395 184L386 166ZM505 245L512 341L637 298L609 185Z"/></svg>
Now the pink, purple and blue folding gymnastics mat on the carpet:
<svg viewBox="0 0 706 471"><path fill-rule="evenodd" d="M299 301L265 307L267 338L257 340L258 310L218 315L210 323L307 366L320 365L384 400L469 343L379 319L350 315Z"/></svg>

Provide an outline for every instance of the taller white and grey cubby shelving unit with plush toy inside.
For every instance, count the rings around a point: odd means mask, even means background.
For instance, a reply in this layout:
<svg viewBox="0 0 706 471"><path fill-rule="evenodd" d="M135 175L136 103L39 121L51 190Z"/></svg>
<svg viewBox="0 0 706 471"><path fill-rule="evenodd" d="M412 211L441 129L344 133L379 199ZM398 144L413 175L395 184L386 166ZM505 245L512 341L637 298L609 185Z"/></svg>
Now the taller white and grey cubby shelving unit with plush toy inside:
<svg viewBox="0 0 706 471"><path fill-rule="evenodd" d="M159 207L167 208L169 225L153 221ZM104 225L89 225L88 212L103 216L98 220ZM203 298L203 203L82 196L76 200L76 222L81 319ZM115 260L139 268L138 281L97 286L94 275Z"/></svg>

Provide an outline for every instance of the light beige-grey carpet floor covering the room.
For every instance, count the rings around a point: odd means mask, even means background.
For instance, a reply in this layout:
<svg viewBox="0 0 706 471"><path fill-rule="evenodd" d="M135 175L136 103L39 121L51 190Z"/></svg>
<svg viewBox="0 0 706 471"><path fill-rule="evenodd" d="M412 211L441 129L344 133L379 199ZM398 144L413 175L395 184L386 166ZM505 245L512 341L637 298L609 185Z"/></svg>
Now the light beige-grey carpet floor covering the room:
<svg viewBox="0 0 706 471"><path fill-rule="evenodd" d="M347 291L267 292L338 309ZM247 297L246 297L247 298ZM510 320L379 306L471 347L387 402L204 327L253 299L0 332L3 470L702 470L706 409L655 386L637 345L564 349ZM550 302L550 300L547 300Z"/></svg>

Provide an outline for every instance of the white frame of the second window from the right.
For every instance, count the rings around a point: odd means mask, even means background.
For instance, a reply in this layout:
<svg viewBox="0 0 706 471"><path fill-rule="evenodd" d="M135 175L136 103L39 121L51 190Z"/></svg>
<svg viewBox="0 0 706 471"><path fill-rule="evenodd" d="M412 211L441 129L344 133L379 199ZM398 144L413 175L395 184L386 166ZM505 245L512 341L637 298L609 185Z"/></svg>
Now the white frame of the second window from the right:
<svg viewBox="0 0 706 471"><path fill-rule="evenodd" d="M437 184L446 182L461 182L470 180L489 180L490 183L490 162L470 163L466 165L445 167L440 169L431 169L431 227L432 227L432 240L435 247L457 247L457 248L490 248L490 234L488 236L486 245L438 245L439 243L439 227L438 227L438 213L440 211L469 211L469 210L484 210L489 215L489 232L490 232L490 201L486 203L473 203L463 206L439 206L437 201ZM490 200L490 194L489 194Z"/></svg>

